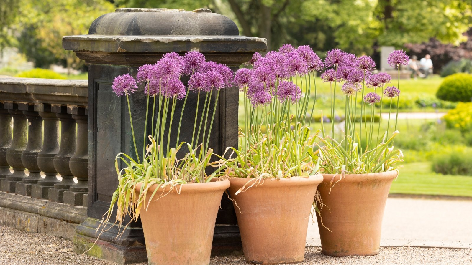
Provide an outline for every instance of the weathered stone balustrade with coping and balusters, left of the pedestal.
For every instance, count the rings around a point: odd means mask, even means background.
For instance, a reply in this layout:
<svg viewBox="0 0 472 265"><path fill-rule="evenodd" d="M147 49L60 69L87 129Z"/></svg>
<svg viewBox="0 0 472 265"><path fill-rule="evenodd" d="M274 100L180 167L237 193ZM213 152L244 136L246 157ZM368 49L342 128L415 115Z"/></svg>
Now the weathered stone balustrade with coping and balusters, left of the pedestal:
<svg viewBox="0 0 472 265"><path fill-rule="evenodd" d="M0 191L87 207L87 85L0 78Z"/></svg>

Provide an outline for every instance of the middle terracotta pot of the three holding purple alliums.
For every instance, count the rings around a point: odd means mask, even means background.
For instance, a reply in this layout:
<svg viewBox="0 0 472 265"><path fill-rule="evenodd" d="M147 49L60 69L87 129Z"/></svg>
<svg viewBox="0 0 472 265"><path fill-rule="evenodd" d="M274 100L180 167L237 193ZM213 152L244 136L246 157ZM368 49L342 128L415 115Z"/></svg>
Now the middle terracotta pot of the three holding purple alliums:
<svg viewBox="0 0 472 265"><path fill-rule="evenodd" d="M262 184L235 195L250 180L253 179L229 179L245 261L255 264L302 262L313 198L323 177L317 174L265 179Z"/></svg>

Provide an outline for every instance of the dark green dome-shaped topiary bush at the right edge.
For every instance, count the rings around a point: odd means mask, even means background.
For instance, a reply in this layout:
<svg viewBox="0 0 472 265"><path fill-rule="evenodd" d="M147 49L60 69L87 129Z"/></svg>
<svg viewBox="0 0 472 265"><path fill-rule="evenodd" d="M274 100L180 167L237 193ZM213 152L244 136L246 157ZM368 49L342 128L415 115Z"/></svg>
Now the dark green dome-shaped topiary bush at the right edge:
<svg viewBox="0 0 472 265"><path fill-rule="evenodd" d="M472 75L454 74L444 78L436 92L438 99L447 101L472 101Z"/></svg>

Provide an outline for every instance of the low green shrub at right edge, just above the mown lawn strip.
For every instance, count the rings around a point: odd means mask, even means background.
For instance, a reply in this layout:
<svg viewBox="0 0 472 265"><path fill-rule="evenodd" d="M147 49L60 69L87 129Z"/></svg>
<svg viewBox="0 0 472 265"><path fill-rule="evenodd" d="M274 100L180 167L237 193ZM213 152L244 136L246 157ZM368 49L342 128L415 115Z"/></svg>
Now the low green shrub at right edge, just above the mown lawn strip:
<svg viewBox="0 0 472 265"><path fill-rule="evenodd" d="M472 150L455 147L433 156L432 169L445 175L472 175Z"/></svg>

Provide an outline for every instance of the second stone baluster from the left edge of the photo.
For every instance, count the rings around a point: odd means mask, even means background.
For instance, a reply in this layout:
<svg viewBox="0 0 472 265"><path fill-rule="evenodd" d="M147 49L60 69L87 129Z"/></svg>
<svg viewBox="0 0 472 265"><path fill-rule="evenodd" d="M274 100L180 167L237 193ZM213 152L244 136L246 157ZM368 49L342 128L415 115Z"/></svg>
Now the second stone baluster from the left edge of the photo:
<svg viewBox="0 0 472 265"><path fill-rule="evenodd" d="M16 183L27 177L25 166L21 161L21 154L26 149L28 120L23 111L18 110L17 104L6 103L5 105L8 108L8 113L13 116L13 140L7 150L7 162L13 167L13 174L1 180L0 190L15 193Z"/></svg>

